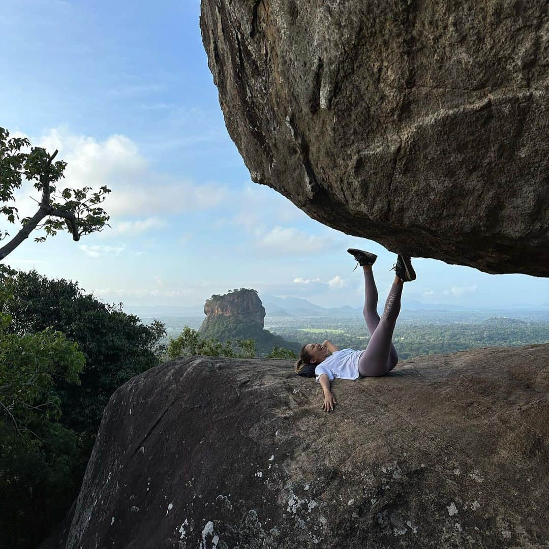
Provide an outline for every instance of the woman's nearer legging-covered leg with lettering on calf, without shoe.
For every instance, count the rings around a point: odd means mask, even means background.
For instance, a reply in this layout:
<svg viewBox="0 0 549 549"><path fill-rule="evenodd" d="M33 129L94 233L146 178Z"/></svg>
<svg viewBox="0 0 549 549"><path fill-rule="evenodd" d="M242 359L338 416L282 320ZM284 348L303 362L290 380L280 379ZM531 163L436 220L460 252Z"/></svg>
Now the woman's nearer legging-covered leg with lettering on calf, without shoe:
<svg viewBox="0 0 549 549"><path fill-rule="evenodd" d="M358 373L361 376L384 376L394 367L394 365L390 365L389 355L396 318L400 312L400 298L403 285L404 282L395 277L395 282L391 286L391 290L385 301L383 315L372 333L366 350L358 361Z"/></svg>

